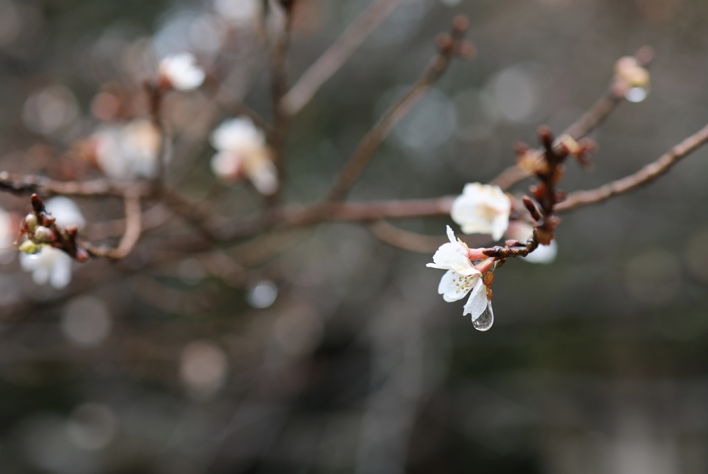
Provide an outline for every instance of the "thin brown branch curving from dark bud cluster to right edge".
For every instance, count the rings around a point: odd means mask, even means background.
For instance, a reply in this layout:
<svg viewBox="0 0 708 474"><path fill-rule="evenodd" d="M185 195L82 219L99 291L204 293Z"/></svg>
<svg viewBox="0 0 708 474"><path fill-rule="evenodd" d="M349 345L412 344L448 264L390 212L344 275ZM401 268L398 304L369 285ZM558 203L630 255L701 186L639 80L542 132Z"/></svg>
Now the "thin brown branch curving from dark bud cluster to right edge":
<svg viewBox="0 0 708 474"><path fill-rule="evenodd" d="M625 192L635 190L637 187L651 183L707 141L708 125L681 141L680 144L667 151L658 160L649 163L632 175L612 181L612 183L607 183L594 190L572 192L564 202L556 206L556 211L568 212L578 207L597 204L610 199L610 197L622 195Z"/></svg>

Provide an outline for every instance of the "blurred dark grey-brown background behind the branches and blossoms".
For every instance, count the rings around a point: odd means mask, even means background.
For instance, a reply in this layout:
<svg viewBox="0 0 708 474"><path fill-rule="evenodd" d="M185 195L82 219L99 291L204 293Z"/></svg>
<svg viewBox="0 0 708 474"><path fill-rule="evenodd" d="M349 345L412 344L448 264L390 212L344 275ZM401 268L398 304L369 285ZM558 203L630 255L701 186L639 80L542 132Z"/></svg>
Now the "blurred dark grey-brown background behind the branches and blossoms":
<svg viewBox="0 0 708 474"><path fill-rule="evenodd" d="M268 117L273 25L256 28L246 3L0 0L0 169L99 176L77 144L145 116L140 81L182 50L227 71L229 97ZM369 4L298 0L292 78ZM617 58L642 45L656 50L649 95L591 135L595 169L569 165L564 189L632 173L708 122L704 1L404 0L293 120L288 202L324 195L457 13L469 16L476 57L455 61L396 127L351 200L454 195L491 180L513 163L515 141L576 120ZM165 107L176 132L169 183L224 216L258 207L210 171L207 134L234 112L208 88ZM168 223L124 262L74 263L64 289L35 284L4 253L0 468L705 473L707 158L699 150L646 189L564 215L555 262L497 272L487 333L436 294L430 254L355 224L147 265L161 238L188 232ZM118 200L76 202L88 236L122 216ZM27 197L3 194L0 205L29 210ZM395 224L443 236L452 222ZM17 227L6 229L11 242Z"/></svg>

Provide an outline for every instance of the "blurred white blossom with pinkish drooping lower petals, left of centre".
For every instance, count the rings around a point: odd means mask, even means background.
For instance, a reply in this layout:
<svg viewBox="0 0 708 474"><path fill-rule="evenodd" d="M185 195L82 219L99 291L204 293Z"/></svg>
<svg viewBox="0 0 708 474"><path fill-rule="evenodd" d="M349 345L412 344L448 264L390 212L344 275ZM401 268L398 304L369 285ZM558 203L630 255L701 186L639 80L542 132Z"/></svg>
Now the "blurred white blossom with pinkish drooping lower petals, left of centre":
<svg viewBox="0 0 708 474"><path fill-rule="evenodd" d="M212 132L210 141L217 149L212 170L219 178L233 182L245 175L263 195L278 190L278 170L265 143L265 134L249 118L223 122Z"/></svg>

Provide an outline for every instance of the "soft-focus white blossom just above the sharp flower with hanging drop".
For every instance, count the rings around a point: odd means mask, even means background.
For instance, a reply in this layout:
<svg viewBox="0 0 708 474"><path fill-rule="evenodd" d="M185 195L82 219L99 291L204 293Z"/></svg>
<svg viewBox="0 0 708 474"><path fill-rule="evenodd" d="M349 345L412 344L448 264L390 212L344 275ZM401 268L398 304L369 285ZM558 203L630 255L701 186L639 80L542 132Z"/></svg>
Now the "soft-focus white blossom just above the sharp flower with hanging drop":
<svg viewBox="0 0 708 474"><path fill-rule="evenodd" d="M511 200L498 186L467 183L450 216L464 233L489 233L498 241L509 225Z"/></svg>

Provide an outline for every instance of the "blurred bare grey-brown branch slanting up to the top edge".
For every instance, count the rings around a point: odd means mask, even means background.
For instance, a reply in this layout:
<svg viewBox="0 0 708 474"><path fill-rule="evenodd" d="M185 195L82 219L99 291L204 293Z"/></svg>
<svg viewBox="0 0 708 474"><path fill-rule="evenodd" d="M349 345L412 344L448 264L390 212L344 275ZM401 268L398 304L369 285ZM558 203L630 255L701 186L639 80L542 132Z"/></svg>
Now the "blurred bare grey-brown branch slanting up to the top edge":
<svg viewBox="0 0 708 474"><path fill-rule="evenodd" d="M312 100L319 88L338 71L358 47L401 4L402 0L376 0L347 28L344 33L304 71L295 86L282 98L282 110L288 115L297 112Z"/></svg>

